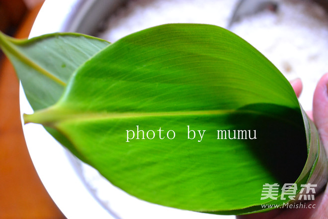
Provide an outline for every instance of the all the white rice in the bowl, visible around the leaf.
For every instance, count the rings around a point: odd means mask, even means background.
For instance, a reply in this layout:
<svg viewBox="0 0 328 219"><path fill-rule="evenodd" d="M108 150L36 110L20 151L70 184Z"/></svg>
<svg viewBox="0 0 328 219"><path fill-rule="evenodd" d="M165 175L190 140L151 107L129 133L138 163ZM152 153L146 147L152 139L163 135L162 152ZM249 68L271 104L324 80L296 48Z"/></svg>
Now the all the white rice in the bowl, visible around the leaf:
<svg viewBox="0 0 328 219"><path fill-rule="evenodd" d="M307 0L278 0L278 11L245 17L232 31L245 38L292 80L301 78L300 102L312 109L320 77L328 71L328 16ZM226 27L237 0L130 0L113 14L100 35L110 42L164 23L208 23ZM82 164L83 177L100 202L122 219L221 219L216 216L166 208L131 197L113 187L97 171Z"/></svg>

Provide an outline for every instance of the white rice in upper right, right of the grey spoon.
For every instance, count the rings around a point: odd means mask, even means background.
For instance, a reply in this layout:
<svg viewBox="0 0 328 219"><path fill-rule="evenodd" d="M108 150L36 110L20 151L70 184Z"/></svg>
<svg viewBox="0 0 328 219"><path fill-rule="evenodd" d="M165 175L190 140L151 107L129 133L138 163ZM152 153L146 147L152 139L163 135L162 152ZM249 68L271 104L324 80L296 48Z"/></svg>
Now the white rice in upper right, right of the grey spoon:
<svg viewBox="0 0 328 219"><path fill-rule="evenodd" d="M313 93L328 72L328 15L308 0L280 0L277 13L245 17L232 31L264 54L288 80L301 78L300 103L312 109Z"/></svg>

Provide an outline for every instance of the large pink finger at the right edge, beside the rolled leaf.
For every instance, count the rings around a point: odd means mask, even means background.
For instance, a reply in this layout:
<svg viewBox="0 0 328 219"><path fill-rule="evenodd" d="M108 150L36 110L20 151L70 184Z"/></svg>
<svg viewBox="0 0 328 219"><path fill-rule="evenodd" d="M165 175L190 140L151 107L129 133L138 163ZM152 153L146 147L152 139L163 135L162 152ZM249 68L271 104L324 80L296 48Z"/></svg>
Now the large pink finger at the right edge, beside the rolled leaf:
<svg viewBox="0 0 328 219"><path fill-rule="evenodd" d="M328 73L319 81L313 97L313 119L328 151Z"/></svg>

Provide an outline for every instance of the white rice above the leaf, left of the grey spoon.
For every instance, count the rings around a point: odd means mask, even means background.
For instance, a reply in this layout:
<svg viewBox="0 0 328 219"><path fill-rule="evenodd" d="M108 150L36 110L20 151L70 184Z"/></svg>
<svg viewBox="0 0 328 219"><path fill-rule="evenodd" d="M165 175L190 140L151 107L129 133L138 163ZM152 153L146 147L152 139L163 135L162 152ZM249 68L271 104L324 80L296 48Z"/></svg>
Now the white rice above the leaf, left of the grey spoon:
<svg viewBox="0 0 328 219"><path fill-rule="evenodd" d="M109 42L164 23L208 23L227 26L238 0L129 0L110 17L100 38Z"/></svg>

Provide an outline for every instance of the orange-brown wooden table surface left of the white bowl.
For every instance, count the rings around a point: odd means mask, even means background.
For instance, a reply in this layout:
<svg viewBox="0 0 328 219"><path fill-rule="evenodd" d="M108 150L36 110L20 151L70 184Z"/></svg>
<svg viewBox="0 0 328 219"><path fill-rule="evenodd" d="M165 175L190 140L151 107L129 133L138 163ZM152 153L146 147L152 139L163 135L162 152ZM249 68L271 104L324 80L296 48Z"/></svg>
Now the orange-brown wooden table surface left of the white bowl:
<svg viewBox="0 0 328 219"><path fill-rule="evenodd" d="M40 7L41 4L27 11L15 37L28 36ZM0 19L3 21L3 17ZM0 106L0 219L64 219L32 164L20 121L19 82L3 57Z"/></svg>

